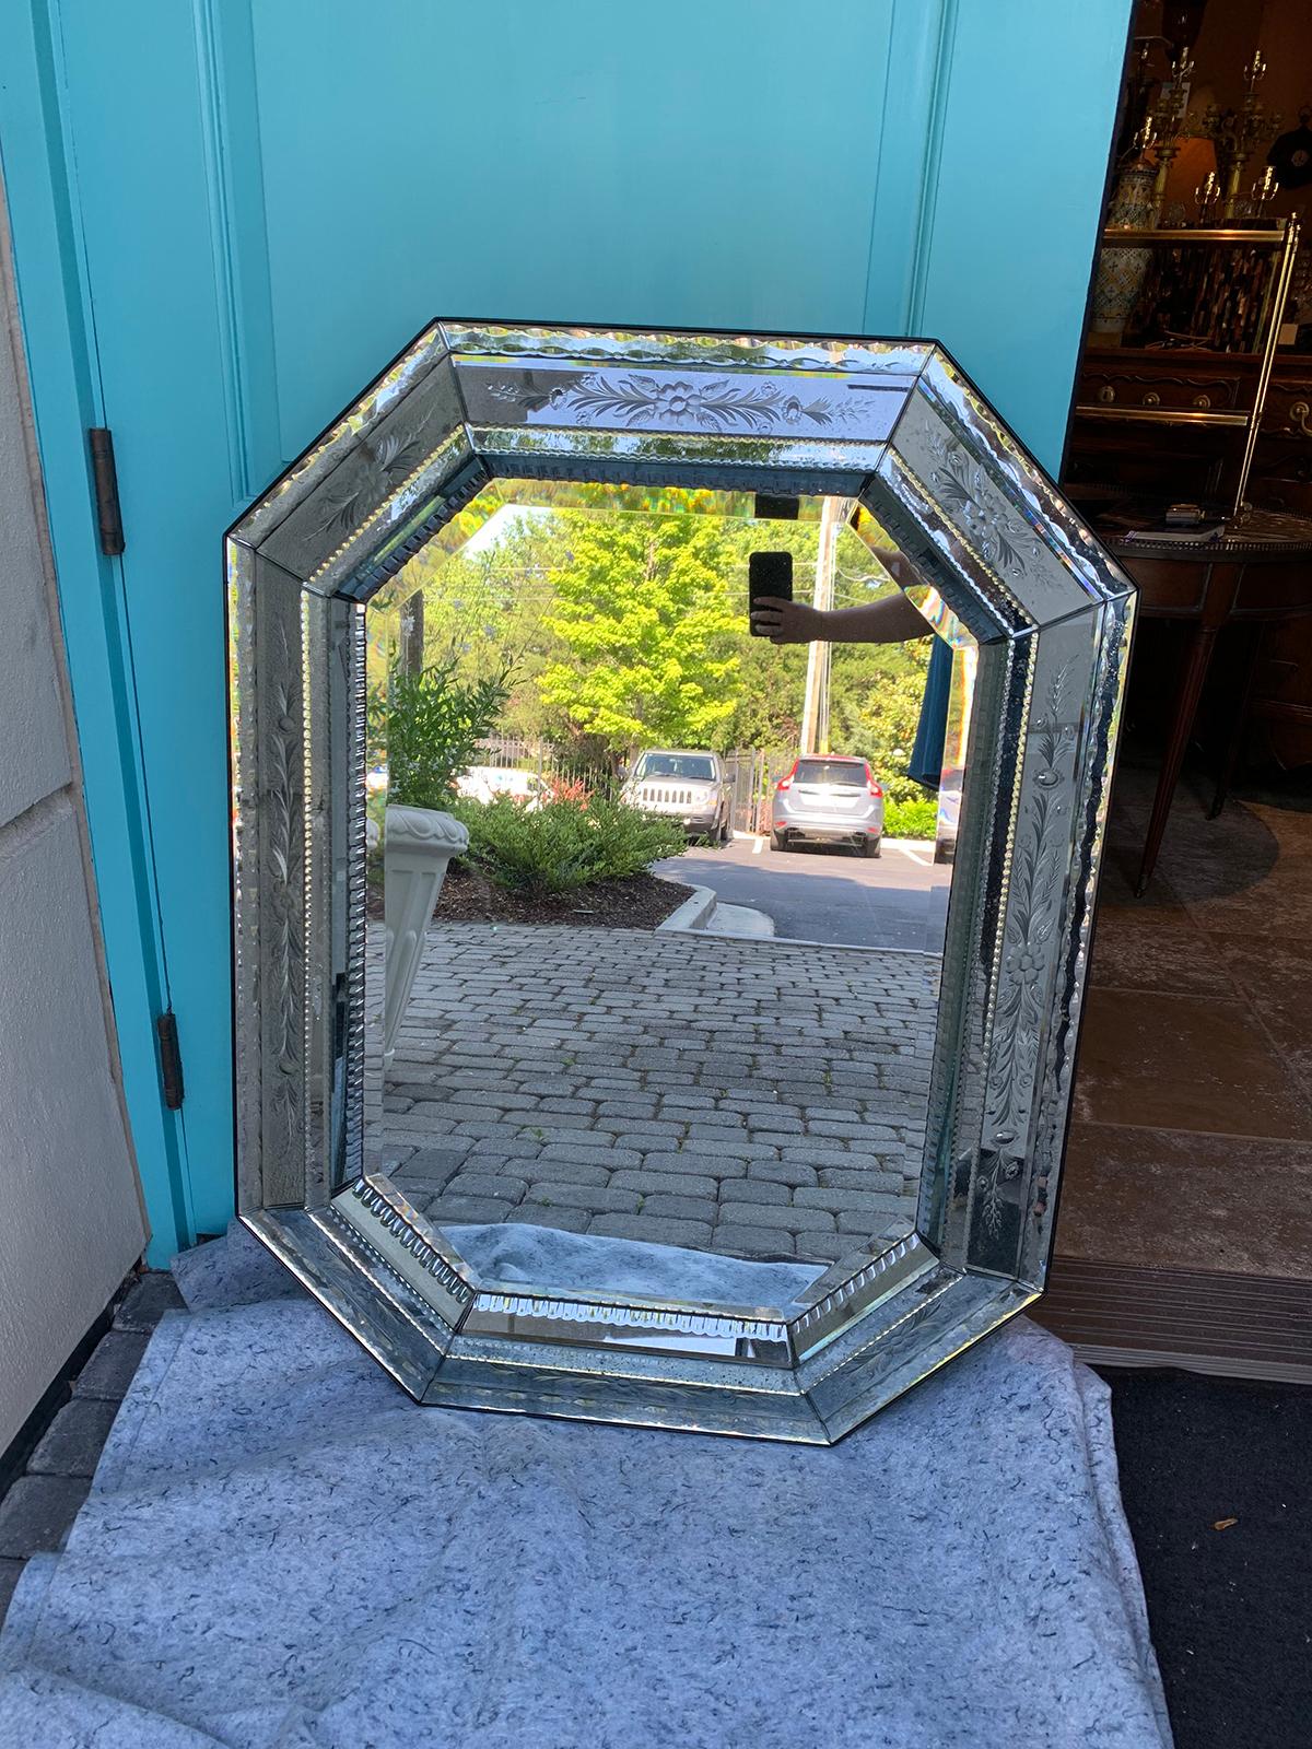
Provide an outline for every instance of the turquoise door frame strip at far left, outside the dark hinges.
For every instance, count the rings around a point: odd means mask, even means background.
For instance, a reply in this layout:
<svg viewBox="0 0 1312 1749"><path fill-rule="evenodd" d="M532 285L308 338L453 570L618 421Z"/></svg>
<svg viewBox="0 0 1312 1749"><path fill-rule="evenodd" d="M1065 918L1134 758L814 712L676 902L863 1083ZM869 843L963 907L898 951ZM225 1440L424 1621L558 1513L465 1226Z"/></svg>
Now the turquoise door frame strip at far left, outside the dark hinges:
<svg viewBox="0 0 1312 1749"><path fill-rule="evenodd" d="M100 551L87 429L105 423L77 182L59 107L61 49L42 0L0 7L0 173L79 729L100 927L124 1098L145 1196L147 1259L196 1242L182 1114L161 1095L156 1018L168 964L150 854L124 572Z"/></svg>

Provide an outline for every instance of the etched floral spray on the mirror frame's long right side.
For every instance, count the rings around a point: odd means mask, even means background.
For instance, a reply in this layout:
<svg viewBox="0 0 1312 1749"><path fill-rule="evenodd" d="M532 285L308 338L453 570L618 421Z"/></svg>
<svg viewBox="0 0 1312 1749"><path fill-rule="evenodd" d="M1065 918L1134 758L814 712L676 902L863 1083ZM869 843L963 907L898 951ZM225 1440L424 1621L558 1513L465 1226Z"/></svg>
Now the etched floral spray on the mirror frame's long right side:
<svg viewBox="0 0 1312 1749"><path fill-rule="evenodd" d="M1067 866L1069 817L1058 796L1064 754L1074 742L1074 724L1062 721L1071 663L1048 684L1044 715L1034 724L1032 747L1039 761L1034 806L1023 841L1016 847L1004 932L1002 978L994 1020L994 1065L988 1077L983 1219L990 1233L1002 1224L1001 1186L1020 1172L1029 1093L1036 1083L1039 1032L1044 1013L1044 969L1058 923L1055 897Z"/></svg>

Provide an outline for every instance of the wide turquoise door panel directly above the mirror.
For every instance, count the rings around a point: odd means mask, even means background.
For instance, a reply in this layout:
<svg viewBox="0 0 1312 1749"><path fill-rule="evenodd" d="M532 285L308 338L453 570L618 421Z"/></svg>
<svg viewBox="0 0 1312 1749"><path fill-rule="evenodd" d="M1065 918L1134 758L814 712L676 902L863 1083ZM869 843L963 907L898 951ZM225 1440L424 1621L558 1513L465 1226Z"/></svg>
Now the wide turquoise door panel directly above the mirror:
<svg viewBox="0 0 1312 1749"><path fill-rule="evenodd" d="M826 9L841 93L773 3L518 0L486 56L325 14L255 9L285 455L436 310L861 327L892 0Z"/></svg>

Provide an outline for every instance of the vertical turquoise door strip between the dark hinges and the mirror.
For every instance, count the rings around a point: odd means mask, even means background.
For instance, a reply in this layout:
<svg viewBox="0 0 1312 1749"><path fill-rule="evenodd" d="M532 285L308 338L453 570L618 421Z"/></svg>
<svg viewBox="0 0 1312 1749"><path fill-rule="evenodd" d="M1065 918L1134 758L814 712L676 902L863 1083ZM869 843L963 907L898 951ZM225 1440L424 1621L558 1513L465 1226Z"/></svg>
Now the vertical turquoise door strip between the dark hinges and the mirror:
<svg viewBox="0 0 1312 1749"><path fill-rule="evenodd" d="M222 1231L233 1170L231 806L215 530L243 483L233 477L210 142L198 126L206 87L189 7L72 0L61 12L192 1219L198 1231Z"/></svg>

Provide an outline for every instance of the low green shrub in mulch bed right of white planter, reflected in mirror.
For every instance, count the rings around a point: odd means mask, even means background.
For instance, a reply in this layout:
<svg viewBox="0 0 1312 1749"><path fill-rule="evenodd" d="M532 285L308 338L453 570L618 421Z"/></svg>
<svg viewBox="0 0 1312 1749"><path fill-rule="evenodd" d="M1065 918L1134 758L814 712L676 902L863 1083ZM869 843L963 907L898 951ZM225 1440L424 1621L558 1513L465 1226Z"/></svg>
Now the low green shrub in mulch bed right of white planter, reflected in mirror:
<svg viewBox="0 0 1312 1749"><path fill-rule="evenodd" d="M535 808L497 796L458 801L450 812L469 827L469 861L514 892L570 892L593 880L637 874L687 848L677 826L605 796Z"/></svg>

